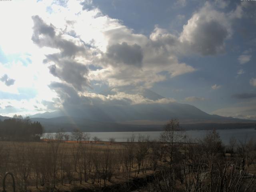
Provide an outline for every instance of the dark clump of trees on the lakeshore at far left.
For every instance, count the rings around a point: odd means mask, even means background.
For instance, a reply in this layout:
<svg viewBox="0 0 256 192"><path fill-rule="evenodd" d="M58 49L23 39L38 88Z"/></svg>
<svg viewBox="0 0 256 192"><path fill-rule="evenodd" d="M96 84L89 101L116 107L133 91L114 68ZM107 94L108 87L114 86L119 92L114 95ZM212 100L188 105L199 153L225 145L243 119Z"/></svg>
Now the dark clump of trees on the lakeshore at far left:
<svg viewBox="0 0 256 192"><path fill-rule="evenodd" d="M29 117L14 115L13 118L0 120L0 138L4 141L40 141L43 132L40 122L31 122Z"/></svg>

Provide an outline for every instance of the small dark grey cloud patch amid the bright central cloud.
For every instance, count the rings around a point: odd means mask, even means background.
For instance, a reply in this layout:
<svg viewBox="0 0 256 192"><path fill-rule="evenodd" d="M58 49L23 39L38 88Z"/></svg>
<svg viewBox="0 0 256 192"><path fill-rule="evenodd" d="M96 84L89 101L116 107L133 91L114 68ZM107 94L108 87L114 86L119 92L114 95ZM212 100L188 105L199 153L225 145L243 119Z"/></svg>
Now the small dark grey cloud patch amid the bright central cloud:
<svg viewBox="0 0 256 192"><path fill-rule="evenodd" d="M142 65L143 53L142 48L137 45L114 44L108 47L107 57L115 63L123 63L140 67Z"/></svg>

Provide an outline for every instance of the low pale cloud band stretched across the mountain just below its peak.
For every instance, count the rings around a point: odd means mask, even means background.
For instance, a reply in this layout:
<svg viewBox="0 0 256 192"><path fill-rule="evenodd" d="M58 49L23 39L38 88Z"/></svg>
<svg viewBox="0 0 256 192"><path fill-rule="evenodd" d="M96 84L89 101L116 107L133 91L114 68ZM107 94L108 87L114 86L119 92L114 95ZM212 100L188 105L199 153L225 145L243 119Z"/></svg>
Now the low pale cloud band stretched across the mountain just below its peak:
<svg viewBox="0 0 256 192"><path fill-rule="evenodd" d="M68 84L52 82L49 87L54 90L59 101L55 103L62 104L62 108L66 111L77 111L79 109L88 108L88 106L98 106L104 108L106 106L127 106L137 104L167 104L176 102L173 98L159 98L157 100L148 99L141 94L129 94L126 92L116 92L107 96L95 93L78 94L76 90ZM52 106L52 102L43 102L44 105Z"/></svg>

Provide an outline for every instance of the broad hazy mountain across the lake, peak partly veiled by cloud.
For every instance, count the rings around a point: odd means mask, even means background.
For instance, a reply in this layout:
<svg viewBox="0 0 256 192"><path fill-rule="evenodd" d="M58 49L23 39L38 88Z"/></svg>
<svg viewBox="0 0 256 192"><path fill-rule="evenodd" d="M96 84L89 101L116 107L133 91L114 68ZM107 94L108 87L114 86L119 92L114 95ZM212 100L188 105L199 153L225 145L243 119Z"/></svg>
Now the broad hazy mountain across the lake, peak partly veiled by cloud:
<svg viewBox="0 0 256 192"><path fill-rule="evenodd" d="M116 92L140 94L150 100L163 99L163 96L148 89L109 88L102 95L114 95ZM245 128L253 127L255 121L232 117L210 115L195 106L170 103L142 103L131 105L86 105L82 109L70 109L45 112L30 116L39 121L48 131L64 128L72 131L80 128L84 131L150 131L162 130L163 125L172 118L178 118L185 129Z"/></svg>

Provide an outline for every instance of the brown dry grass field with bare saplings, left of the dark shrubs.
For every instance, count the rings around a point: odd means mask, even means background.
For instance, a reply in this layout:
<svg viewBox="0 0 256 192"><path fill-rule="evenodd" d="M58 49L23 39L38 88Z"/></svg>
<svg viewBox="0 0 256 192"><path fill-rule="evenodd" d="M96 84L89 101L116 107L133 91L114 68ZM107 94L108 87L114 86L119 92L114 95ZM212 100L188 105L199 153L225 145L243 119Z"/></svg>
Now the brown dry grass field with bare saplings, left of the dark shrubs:
<svg viewBox="0 0 256 192"><path fill-rule="evenodd" d="M9 171L18 191L71 191L153 174L148 154L138 174L135 158L126 155L128 148L127 143L113 142L0 142L0 179ZM10 178L6 181L10 189Z"/></svg>

